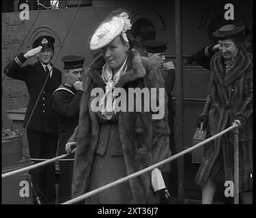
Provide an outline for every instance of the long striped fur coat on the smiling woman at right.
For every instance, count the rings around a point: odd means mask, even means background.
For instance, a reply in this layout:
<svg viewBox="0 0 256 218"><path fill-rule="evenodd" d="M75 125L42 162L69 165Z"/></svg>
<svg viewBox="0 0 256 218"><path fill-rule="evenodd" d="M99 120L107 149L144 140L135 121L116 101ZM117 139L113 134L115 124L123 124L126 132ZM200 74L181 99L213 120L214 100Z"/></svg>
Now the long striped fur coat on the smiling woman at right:
<svg viewBox="0 0 256 218"><path fill-rule="evenodd" d="M253 63L246 50L240 48L234 63L226 71L221 53L212 57L209 94L203 113L208 116L208 132L214 136L244 119L246 128L239 134L240 191L252 189L253 172ZM233 181L233 131L206 144L195 181L206 185L214 161L223 152L225 181ZM223 184L224 185L224 184Z"/></svg>

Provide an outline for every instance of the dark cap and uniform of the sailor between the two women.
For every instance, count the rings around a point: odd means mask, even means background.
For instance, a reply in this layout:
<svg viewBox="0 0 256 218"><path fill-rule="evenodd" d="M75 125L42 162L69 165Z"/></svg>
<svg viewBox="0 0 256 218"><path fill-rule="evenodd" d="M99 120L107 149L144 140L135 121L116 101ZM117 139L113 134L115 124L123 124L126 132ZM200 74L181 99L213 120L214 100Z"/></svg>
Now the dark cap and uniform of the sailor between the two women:
<svg viewBox="0 0 256 218"><path fill-rule="evenodd" d="M164 53L167 50L167 42L146 40L145 42L143 42L143 46L145 48L145 51L149 53ZM172 155L174 155L175 153L177 153L177 151L175 147L175 138L174 138L175 110L174 110L171 91L173 90L174 82L175 82L175 69L169 69L168 72L165 69L160 69L160 72L161 72L162 78L164 78L165 80L165 91L168 96L168 121L169 121L169 128L170 128L169 142L170 142L171 153ZM168 178L166 178L165 174L163 174L163 176L165 178L167 187L169 187L171 196L177 196L177 161L176 160L171 161L171 175L168 176Z"/></svg>

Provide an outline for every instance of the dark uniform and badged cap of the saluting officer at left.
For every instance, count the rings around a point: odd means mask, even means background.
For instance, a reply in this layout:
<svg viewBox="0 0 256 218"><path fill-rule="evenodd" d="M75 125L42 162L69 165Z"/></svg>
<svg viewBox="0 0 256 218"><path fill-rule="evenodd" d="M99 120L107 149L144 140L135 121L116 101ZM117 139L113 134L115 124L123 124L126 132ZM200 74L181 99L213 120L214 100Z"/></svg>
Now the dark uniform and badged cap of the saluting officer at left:
<svg viewBox="0 0 256 218"><path fill-rule="evenodd" d="M53 49L54 42L53 37L43 35L33 42L32 47L42 46L42 49ZM5 67L4 73L10 78L24 81L27 85L29 104L23 126L26 127L27 125L27 140L31 158L53 158L56 154L58 134L56 114L51 108L51 97L55 89L61 84L61 72L56 67L53 67L51 76L48 76L51 69L48 69L48 66L44 69L40 61L33 65L21 67L26 60L24 54L20 53ZM42 90L47 76L46 85ZM40 95L40 91L42 91L42 95ZM35 106L39 95L40 99ZM35 110L31 115L33 108ZM29 121L30 116L31 119ZM37 189L38 195L46 197L48 202L54 203L55 163L31 170L31 176L33 187L37 187L40 190Z"/></svg>

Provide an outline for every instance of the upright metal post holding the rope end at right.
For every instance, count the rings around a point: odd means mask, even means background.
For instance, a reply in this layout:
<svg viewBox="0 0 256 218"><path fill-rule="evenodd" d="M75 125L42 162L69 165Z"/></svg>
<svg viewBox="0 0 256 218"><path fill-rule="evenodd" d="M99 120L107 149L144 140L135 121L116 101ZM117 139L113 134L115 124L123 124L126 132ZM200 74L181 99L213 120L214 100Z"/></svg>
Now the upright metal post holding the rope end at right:
<svg viewBox="0 0 256 218"><path fill-rule="evenodd" d="M234 204L239 204L239 127L233 130L234 136Z"/></svg>

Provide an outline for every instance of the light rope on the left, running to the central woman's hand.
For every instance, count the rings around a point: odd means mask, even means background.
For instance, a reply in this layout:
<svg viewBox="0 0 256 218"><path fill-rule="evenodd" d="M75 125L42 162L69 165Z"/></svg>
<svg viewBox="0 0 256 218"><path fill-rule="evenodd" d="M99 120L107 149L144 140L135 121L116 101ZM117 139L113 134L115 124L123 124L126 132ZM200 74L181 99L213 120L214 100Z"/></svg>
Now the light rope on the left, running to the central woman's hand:
<svg viewBox="0 0 256 218"><path fill-rule="evenodd" d="M71 153L74 153L75 150L76 150L76 149L72 150ZM55 162L55 161L57 161L57 160L59 160L59 159L62 159L63 157L67 157L67 156L70 155L71 153L67 153L67 154L65 154L65 155L60 155L60 156L58 156L58 157L54 157L53 159L46 159L46 161L43 161L43 162L41 162L41 163L36 163L36 164L34 164L34 165L32 165L32 166L28 166L28 167L25 167L25 168L21 168L21 169L18 169L18 170L14 170L14 171L12 171L12 172L7 172L7 173L5 173L5 174L2 174L2 178L8 177L8 176L12 176L12 175L14 175L14 174L19 174L19 173L21 173L21 172L26 172L26 171L29 171L29 170L33 170L33 169L35 169L35 168L40 168L40 167L42 167L42 166L44 166L44 165L46 165L46 164L48 164L48 163L53 163L53 162Z"/></svg>

